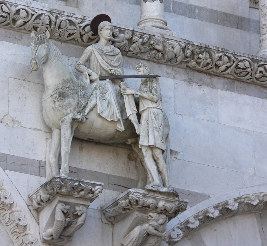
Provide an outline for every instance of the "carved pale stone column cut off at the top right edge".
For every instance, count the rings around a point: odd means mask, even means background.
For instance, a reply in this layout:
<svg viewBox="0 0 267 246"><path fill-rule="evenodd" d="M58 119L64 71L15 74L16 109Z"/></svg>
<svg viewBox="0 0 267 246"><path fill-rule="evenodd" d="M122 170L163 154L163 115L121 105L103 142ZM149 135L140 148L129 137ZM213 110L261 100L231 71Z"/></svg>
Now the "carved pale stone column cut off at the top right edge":
<svg viewBox="0 0 267 246"><path fill-rule="evenodd" d="M267 0L259 0L259 12L260 12L260 48L257 51L257 56L266 58L267 55Z"/></svg>

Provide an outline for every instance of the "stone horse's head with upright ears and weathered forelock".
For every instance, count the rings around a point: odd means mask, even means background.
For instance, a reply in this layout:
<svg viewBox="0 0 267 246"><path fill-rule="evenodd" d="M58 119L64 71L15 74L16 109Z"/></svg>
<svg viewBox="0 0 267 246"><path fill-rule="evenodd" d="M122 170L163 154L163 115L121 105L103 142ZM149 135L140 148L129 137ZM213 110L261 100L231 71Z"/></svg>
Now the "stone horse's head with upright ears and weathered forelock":
<svg viewBox="0 0 267 246"><path fill-rule="evenodd" d="M31 69L34 71L38 70L39 66L48 60L49 36L49 31L46 31L45 34L35 35L34 32L31 34L33 38L30 46L32 51Z"/></svg>

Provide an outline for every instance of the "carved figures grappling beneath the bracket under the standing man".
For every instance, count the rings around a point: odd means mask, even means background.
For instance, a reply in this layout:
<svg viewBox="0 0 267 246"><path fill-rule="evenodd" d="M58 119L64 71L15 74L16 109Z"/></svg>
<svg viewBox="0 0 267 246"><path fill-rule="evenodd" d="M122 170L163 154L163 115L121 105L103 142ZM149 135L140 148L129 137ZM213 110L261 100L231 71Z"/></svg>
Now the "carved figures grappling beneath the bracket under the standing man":
<svg viewBox="0 0 267 246"><path fill-rule="evenodd" d="M148 220L125 235L121 243L123 246L159 246L166 237L166 221L166 215L150 212Z"/></svg>

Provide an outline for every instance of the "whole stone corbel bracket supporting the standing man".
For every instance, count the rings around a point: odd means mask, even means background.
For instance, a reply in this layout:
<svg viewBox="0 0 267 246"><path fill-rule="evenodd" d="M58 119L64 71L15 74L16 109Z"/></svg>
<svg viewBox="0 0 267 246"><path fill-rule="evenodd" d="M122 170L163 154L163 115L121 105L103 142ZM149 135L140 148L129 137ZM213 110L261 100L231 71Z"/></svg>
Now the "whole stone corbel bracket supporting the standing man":
<svg viewBox="0 0 267 246"><path fill-rule="evenodd" d="M186 206L187 201L180 200L177 194L129 189L102 207L101 218L104 223L113 224L114 246L123 245L121 242L131 237L132 232L138 235L138 230L144 231L144 228L148 231L146 238L137 240L164 241L162 237L150 234L151 231L164 234L168 220L183 212ZM157 224L155 221L160 218L163 220ZM152 220L156 223L154 227L149 224Z"/></svg>

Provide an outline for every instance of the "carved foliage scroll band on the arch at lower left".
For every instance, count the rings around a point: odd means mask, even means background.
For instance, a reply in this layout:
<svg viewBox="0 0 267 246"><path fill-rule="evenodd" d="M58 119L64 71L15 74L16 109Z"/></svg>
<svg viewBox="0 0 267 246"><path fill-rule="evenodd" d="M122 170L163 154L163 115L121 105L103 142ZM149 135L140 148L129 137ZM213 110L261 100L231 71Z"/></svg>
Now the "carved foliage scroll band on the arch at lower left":
<svg viewBox="0 0 267 246"><path fill-rule="evenodd" d="M28 232L25 215L1 181L0 220L15 246L40 246L37 237Z"/></svg>

